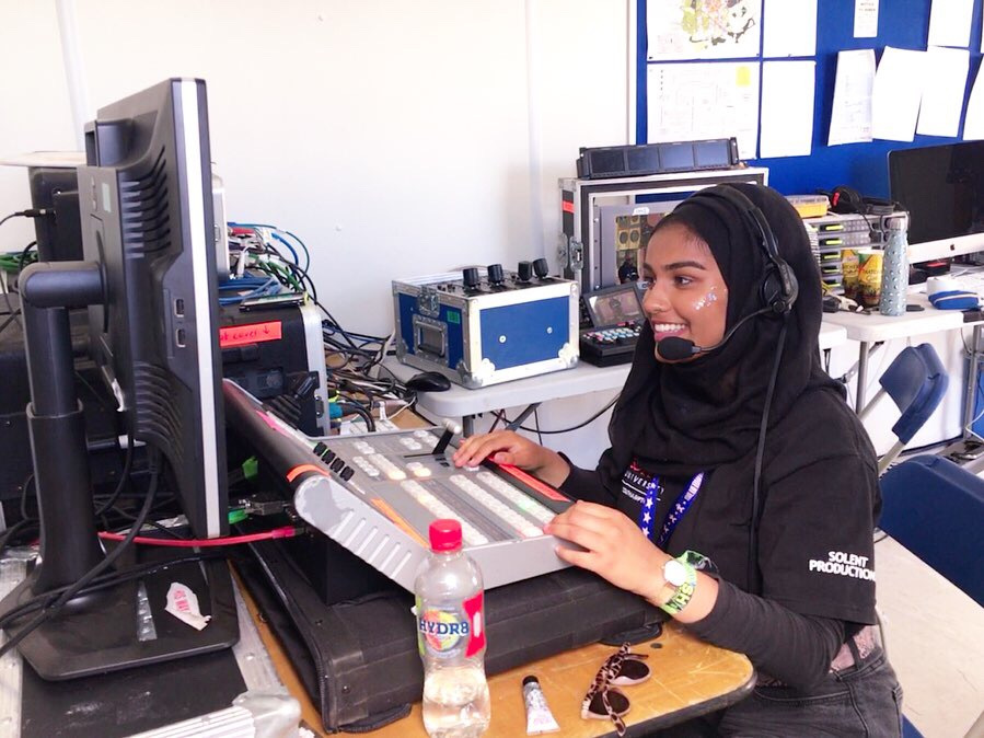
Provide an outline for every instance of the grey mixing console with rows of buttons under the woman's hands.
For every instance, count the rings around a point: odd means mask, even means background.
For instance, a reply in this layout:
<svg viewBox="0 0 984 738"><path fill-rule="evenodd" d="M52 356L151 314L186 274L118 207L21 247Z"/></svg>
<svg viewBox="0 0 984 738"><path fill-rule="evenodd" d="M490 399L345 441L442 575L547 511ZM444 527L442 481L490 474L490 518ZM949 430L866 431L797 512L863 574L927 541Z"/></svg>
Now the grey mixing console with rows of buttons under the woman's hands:
<svg viewBox="0 0 984 738"><path fill-rule="evenodd" d="M464 549L486 588L567 566L569 545L543 532L572 500L525 472L484 462L456 468L438 453L442 428L311 438L225 381L228 422L293 493L298 515L413 591L437 518L461 521Z"/></svg>

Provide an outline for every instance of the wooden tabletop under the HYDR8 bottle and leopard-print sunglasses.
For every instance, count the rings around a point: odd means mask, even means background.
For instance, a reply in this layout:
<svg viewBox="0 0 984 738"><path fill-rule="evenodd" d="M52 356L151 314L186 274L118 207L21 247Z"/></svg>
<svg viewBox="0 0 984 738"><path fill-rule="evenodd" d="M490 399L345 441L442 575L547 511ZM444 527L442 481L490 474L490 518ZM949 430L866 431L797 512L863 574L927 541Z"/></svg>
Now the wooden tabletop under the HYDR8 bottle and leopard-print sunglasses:
<svg viewBox="0 0 984 738"><path fill-rule="evenodd" d="M277 637L257 613L248 592L243 593L246 607L257 622L259 635L274 665L290 693L301 702L306 727L327 736L321 716L308 696L293 667L283 654ZM708 645L675 623L669 623L656 643L660 648L643 643L635 653L648 654L652 678L641 684L623 687L632 707L625 716L626 725L646 723L659 728L688 717L727 706L744 697L754 685L755 673L748 658L734 651ZM489 678L491 693L491 725L487 736L523 736L526 733L521 684L523 677L540 679L547 703L560 725L562 736L602 736L613 733L610 720L584 720L580 717L581 700L594 679L594 673L615 648L593 644L529 664ZM370 734L373 738L426 738L420 703L413 706L408 717Z"/></svg>

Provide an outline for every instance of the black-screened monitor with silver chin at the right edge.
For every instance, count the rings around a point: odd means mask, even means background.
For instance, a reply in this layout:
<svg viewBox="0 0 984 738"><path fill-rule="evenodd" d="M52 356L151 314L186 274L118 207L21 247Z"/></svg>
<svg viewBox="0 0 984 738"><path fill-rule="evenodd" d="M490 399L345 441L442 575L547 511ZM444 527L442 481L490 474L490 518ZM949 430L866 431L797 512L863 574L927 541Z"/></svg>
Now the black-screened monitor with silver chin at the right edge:
<svg viewBox="0 0 984 738"><path fill-rule="evenodd" d="M984 141L889 151L889 185L913 262L984 251Z"/></svg>

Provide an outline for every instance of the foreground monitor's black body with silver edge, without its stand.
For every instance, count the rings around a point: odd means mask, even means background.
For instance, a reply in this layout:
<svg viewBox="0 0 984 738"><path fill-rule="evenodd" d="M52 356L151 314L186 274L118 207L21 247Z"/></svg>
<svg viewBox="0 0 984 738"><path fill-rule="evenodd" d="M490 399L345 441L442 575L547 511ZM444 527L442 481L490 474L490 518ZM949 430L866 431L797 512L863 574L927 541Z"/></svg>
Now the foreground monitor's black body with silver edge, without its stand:
<svg viewBox="0 0 984 738"><path fill-rule="evenodd" d="M199 537L228 532L222 366L205 82L104 107L79 168L82 247L102 265L93 358L134 438L160 449Z"/></svg>

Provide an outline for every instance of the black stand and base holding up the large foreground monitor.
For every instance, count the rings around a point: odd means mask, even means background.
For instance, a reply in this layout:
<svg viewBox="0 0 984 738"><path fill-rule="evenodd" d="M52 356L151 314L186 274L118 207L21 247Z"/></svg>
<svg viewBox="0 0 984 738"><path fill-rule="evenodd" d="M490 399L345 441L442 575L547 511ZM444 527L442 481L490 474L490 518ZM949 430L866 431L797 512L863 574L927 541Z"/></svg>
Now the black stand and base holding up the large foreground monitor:
<svg viewBox="0 0 984 738"><path fill-rule="evenodd" d="M22 273L21 307L31 380L27 422L40 547L27 578L0 600L0 616L35 596L71 586L104 557L96 537L68 315L69 308L102 301L102 274L93 262L38 263ZM192 551L137 546L116 562L115 572L125 578L128 569L148 561L187 557ZM201 631L164 611L172 581L189 586L202 614L211 615ZM13 637L35 614L8 624L8 635ZM202 654L232 646L238 639L228 564L210 560L175 564L76 597L18 648L40 677L54 680Z"/></svg>

